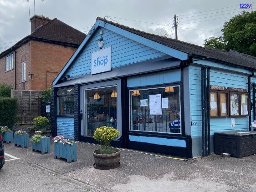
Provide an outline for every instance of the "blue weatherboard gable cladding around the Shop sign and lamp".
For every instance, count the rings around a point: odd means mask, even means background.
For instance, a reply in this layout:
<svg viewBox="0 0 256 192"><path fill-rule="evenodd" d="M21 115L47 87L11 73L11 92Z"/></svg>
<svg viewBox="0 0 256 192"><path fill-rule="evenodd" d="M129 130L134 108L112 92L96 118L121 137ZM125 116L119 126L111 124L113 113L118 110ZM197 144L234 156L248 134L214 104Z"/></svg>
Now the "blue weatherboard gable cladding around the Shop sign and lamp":
<svg viewBox="0 0 256 192"><path fill-rule="evenodd" d="M73 61L65 75L68 74L74 77L91 73L91 53L99 50L97 40L101 38L101 30L103 31L103 48L111 45L112 68L166 56L166 54L162 52L100 27L95 31L81 53L79 53L77 58Z"/></svg>

